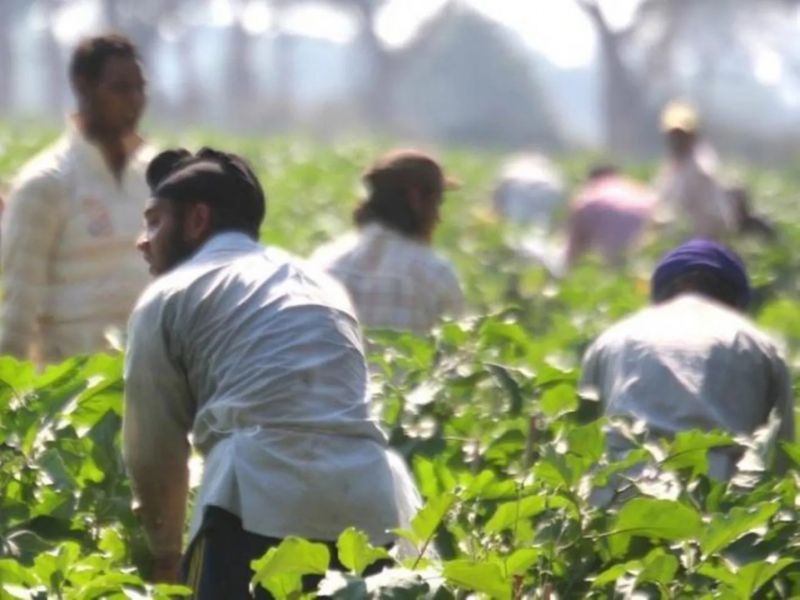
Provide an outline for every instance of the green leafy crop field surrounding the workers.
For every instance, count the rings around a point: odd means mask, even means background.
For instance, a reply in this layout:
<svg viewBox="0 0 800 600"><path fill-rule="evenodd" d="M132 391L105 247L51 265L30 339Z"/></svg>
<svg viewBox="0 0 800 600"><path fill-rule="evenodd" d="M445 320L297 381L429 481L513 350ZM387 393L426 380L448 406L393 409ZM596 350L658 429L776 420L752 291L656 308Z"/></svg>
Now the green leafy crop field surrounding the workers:
<svg viewBox="0 0 800 600"><path fill-rule="evenodd" d="M0 128L0 181L52 133ZM174 142L167 137L159 144ZM248 157L269 196L265 242L307 255L350 226L358 176L385 143L326 146L301 139L196 134ZM641 444L624 463L604 455L602 421L576 389L583 350L647 302L654 260L677 238L652 240L626 270L587 261L557 280L508 243L490 216L500 157L442 153L463 182L449 194L436 245L455 263L469 314L427 338L368 332L373 391L391 444L411 465L426 504L402 535L420 549L362 578L382 550L347 531L329 572L335 598L789 598L800 596L800 478L753 470L723 484L706 452L722 433L687 432ZM562 166L571 185L588 157ZM639 165L647 177L654 165ZM800 169L742 169L780 241L737 241L751 270L753 317L786 342L800 374ZM0 358L0 599L173 597L145 584L147 552L130 510L119 449L121 356L74 357L36 373ZM635 428L631 435L641 439ZM800 445L787 453L800 464ZM634 461L611 508L589 502ZM436 548L438 555L423 552ZM255 565L256 585L299 596L327 549L288 539Z"/></svg>

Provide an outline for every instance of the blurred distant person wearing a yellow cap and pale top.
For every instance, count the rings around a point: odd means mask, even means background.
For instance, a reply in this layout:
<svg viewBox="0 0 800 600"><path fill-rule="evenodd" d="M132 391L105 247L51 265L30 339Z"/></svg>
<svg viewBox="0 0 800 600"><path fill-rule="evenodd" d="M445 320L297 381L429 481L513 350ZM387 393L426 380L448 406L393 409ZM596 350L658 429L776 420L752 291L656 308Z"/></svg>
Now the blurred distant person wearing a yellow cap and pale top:
<svg viewBox="0 0 800 600"><path fill-rule="evenodd" d="M694 108L671 102L661 115L667 157L658 176L662 212L683 222L692 235L720 239L737 228L727 190L717 176L714 151L699 133Z"/></svg>

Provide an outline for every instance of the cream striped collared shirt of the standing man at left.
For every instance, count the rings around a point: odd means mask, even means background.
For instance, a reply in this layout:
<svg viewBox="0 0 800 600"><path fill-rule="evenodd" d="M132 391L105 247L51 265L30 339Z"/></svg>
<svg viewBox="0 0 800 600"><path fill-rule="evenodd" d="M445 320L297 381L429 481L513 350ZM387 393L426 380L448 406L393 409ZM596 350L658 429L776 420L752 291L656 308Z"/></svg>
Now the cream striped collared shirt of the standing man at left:
<svg viewBox="0 0 800 600"><path fill-rule="evenodd" d="M23 168L3 215L0 354L60 361L124 330L149 280L135 242L153 154L139 144L117 180L71 125Z"/></svg>

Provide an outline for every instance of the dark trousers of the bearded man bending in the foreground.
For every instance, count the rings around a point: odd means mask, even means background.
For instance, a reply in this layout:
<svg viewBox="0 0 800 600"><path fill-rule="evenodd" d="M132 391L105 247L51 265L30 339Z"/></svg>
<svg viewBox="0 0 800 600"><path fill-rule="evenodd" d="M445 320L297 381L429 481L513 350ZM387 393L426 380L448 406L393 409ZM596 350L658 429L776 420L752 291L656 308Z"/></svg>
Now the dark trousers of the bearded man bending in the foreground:
<svg viewBox="0 0 800 600"><path fill-rule="evenodd" d="M181 577L192 588L194 600L265 600L272 595L256 586L250 594L253 571L250 562L281 543L280 538L250 533L242 529L242 521L217 506L209 506L203 515L200 532L186 551L181 565ZM335 542L320 542L331 554L330 569L346 570L339 562ZM391 561L378 561L365 574L377 573ZM303 577L303 590L313 591L321 575Z"/></svg>

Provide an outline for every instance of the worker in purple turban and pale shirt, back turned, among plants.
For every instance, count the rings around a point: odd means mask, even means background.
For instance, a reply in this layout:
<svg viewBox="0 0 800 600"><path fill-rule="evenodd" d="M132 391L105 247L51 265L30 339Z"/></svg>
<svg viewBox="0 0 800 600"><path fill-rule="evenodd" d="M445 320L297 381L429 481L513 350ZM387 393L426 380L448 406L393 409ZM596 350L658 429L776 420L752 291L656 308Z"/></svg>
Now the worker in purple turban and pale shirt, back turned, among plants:
<svg viewBox="0 0 800 600"><path fill-rule="evenodd" d="M651 281L653 305L613 325L589 348L582 387L605 414L642 420L655 436L688 429L750 434L780 419L794 437L786 363L775 343L742 313L750 288L727 248L692 240L662 258ZM609 450L626 443L609 436ZM709 473L729 478L739 451L709 454Z"/></svg>

